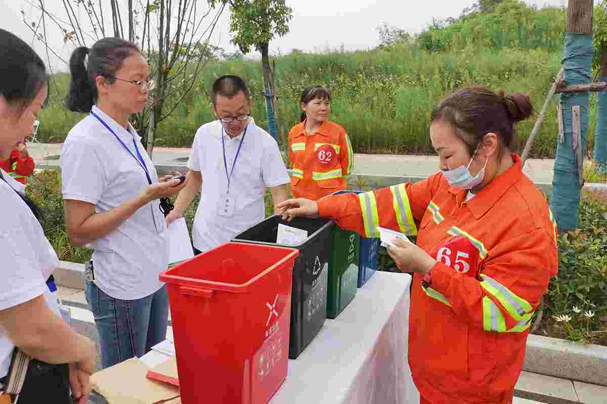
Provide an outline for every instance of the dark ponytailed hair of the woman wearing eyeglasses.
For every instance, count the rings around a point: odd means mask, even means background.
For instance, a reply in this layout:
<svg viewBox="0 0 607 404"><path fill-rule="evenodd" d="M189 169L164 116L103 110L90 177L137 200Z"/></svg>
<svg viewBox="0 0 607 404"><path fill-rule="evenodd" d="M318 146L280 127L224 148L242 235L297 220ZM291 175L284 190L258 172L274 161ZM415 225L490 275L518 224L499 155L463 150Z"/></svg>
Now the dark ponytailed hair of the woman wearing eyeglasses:
<svg viewBox="0 0 607 404"><path fill-rule="evenodd" d="M70 57L70 92L66 108L74 112L90 112L97 102L97 76L112 84L124 59L139 52L133 42L120 38L103 38L89 49L79 47ZM87 59L88 56L88 59Z"/></svg>

